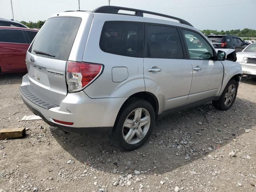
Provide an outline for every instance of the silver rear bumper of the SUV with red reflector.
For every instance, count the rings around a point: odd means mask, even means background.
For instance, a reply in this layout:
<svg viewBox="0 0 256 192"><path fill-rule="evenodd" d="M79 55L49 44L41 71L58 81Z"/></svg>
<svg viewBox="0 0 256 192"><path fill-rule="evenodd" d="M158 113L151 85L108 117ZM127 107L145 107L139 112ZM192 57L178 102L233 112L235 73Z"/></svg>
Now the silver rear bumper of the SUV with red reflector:
<svg viewBox="0 0 256 192"><path fill-rule="evenodd" d="M26 75L24 76L26 78ZM24 80L23 78L23 80ZM30 86L28 81L22 86ZM22 86L20 89L22 89ZM34 114L40 116L46 123L68 132L76 133L110 133L114 126L117 114L127 98L89 98L83 91L69 93L62 100L60 106L44 108L35 104L31 99L20 92L22 100ZM35 94L35 92L34 92ZM36 94L35 94L36 95ZM73 122L65 125L53 119Z"/></svg>

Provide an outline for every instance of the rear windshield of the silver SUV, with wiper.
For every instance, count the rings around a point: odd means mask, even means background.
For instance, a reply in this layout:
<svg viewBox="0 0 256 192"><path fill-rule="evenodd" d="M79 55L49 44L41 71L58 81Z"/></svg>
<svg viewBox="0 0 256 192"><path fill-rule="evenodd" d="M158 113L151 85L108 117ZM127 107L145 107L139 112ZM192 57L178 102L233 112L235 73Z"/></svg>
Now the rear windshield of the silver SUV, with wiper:
<svg viewBox="0 0 256 192"><path fill-rule="evenodd" d="M36 54L34 52L36 50L52 55L38 54L42 57L68 60L81 21L81 18L76 17L50 18L38 32L30 49L31 52Z"/></svg>

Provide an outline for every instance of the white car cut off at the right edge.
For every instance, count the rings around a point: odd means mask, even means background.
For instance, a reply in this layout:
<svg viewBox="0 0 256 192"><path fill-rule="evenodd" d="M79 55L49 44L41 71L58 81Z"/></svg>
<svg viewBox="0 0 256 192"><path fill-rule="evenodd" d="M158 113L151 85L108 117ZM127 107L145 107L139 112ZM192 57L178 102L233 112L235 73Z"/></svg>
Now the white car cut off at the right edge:
<svg viewBox="0 0 256 192"><path fill-rule="evenodd" d="M236 62L242 65L243 74L256 79L256 43L248 45L242 52L237 52L236 57Z"/></svg>

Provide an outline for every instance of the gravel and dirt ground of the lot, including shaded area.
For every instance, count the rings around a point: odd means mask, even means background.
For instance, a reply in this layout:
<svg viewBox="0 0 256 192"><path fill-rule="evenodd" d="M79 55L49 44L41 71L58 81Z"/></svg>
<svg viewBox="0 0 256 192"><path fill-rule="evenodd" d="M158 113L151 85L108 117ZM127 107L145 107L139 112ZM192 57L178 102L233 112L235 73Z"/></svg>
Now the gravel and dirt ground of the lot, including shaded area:
<svg viewBox="0 0 256 192"><path fill-rule="evenodd" d="M0 140L0 192L256 191L255 81L243 78L230 110L207 103L173 114L142 148L122 152L105 135L21 121L32 115L19 95L22 75L0 76L0 128L27 130Z"/></svg>

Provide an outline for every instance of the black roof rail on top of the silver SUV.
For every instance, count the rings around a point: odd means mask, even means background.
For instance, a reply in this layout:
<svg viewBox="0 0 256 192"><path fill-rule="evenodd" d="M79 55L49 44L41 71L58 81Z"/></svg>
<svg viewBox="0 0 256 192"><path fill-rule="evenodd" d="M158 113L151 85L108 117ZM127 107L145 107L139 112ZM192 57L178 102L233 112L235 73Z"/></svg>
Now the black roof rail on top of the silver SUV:
<svg viewBox="0 0 256 192"><path fill-rule="evenodd" d="M133 11L133 12L135 12L135 14L118 13L119 10ZM150 15L157 15L157 16L161 16L161 17L171 18L171 19L174 19L174 20L178 20L182 24L192 26L192 24L190 24L189 22L187 22L187 21L185 21L181 18L178 18L178 17L165 15L165 14L160 14L160 13L151 12L151 11L144 11L144 10L140 10L140 9L126 8L126 7L102 6L102 7L96 8L92 12L94 12L94 13L110 13L110 14L133 15L133 16L139 16L139 17L143 17L143 13L146 13L146 14L150 14Z"/></svg>

